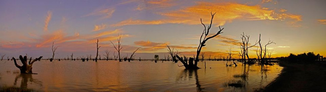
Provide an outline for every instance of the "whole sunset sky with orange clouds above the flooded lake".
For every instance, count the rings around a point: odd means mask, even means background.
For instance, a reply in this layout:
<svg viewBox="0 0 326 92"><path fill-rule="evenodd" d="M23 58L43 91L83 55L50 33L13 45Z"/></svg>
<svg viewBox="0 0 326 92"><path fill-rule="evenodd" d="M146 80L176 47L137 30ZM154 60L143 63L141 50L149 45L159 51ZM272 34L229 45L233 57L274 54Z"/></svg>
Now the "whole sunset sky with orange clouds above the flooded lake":
<svg viewBox="0 0 326 92"><path fill-rule="evenodd" d="M168 55L167 44L181 55L196 54L204 26L215 13L210 34L223 33L207 41L202 52L222 57L232 49L239 57L241 34L254 44L261 34L272 57L313 51L326 55L326 0L1 0L0 54L52 57L52 43L59 46L55 58L96 55L117 51L121 55L159 58ZM257 58L256 47L250 58Z"/></svg>

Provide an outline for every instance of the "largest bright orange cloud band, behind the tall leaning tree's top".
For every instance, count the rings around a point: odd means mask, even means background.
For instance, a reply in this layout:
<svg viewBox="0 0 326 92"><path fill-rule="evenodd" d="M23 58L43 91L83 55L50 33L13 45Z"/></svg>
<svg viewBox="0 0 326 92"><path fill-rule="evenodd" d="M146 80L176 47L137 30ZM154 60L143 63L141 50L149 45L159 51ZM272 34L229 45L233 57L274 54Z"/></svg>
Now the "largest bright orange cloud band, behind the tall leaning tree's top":
<svg viewBox="0 0 326 92"><path fill-rule="evenodd" d="M223 25L234 19L245 20L284 20L285 18L294 19L293 22L301 21L300 15L281 13L274 10L268 10L260 5L246 5L233 2L212 3L197 2L197 5L189 6L184 9L169 12L161 12L160 15L166 17L158 20L137 20L127 19L111 26L136 25L136 24L166 24L166 23L184 23L200 24L200 18L204 23L210 22L210 13L216 12L214 16L214 25ZM207 18L209 17L209 18Z"/></svg>

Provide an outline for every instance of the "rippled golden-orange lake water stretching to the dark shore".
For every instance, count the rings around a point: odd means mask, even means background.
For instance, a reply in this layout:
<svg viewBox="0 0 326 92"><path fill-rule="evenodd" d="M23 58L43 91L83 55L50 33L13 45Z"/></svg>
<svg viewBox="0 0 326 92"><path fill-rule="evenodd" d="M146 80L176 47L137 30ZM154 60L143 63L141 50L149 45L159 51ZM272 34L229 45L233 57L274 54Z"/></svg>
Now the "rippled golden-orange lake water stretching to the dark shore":
<svg viewBox="0 0 326 92"><path fill-rule="evenodd" d="M283 68L242 63L227 67L225 63L206 61L205 69L200 61L201 69L185 70L178 66L181 62L172 61L41 60L33 64L38 74L21 74L13 60L2 60L0 85L37 91L252 91L273 81Z"/></svg>

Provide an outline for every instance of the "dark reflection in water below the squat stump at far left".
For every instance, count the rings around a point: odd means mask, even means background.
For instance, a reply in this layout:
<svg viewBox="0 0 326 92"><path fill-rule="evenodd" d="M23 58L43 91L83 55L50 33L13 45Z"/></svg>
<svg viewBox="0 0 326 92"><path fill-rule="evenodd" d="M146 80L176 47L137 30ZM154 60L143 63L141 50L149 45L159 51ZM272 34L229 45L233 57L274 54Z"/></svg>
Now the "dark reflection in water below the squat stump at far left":
<svg viewBox="0 0 326 92"><path fill-rule="evenodd" d="M33 74L26 74L26 73L20 73L15 77L14 85L17 85L18 79L21 79L21 88L27 88L28 82L30 84L37 84L42 86L42 81L39 81L38 79L33 78Z"/></svg>

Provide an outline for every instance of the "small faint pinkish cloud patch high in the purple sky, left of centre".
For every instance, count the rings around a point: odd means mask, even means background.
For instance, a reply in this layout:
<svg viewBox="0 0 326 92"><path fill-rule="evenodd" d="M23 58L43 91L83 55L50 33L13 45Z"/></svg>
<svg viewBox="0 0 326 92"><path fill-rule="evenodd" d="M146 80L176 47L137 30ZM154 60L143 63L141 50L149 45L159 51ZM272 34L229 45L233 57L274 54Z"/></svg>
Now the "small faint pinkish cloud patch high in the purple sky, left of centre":
<svg viewBox="0 0 326 92"><path fill-rule="evenodd" d="M110 18L115 11L115 8L105 8L105 9L96 9L93 12L84 15L84 16L90 16L90 15L95 15L95 16L102 16L101 18Z"/></svg>

